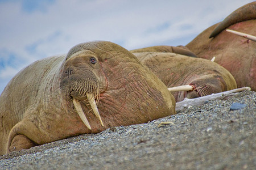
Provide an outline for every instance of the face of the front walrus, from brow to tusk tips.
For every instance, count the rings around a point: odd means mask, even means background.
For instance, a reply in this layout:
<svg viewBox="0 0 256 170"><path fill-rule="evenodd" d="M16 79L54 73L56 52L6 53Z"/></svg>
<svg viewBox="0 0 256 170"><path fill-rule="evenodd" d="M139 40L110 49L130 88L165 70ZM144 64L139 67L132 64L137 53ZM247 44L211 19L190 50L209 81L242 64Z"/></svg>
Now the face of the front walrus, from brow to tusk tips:
<svg viewBox="0 0 256 170"><path fill-rule="evenodd" d="M80 49L79 47L80 45L75 46L67 54L61 74L60 90L65 101L65 109L70 108L73 103L81 120L88 129L91 129L80 101L87 101L90 104L94 114L104 126L96 104L100 99L100 75L95 70L100 66L95 53L89 50L76 52L77 49Z"/></svg>

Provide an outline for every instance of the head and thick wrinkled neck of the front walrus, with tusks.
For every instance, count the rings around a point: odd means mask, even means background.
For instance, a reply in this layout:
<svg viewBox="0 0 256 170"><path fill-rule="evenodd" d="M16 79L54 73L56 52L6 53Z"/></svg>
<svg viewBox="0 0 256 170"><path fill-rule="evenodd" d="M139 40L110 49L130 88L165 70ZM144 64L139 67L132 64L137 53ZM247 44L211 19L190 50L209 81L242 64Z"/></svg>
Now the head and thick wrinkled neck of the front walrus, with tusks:
<svg viewBox="0 0 256 170"><path fill-rule="evenodd" d="M77 112L90 133L175 113L174 97L163 82L128 50L108 41L69 50L61 67L60 92L66 111Z"/></svg>

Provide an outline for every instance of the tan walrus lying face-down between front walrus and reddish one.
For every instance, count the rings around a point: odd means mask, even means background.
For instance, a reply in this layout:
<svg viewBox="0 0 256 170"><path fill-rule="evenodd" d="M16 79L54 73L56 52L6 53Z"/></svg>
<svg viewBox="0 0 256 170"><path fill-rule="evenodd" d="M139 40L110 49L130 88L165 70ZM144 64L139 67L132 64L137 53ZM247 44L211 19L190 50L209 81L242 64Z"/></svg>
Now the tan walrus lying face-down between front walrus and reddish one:
<svg viewBox="0 0 256 170"><path fill-rule="evenodd" d="M176 102L236 88L233 76L212 61L175 53L133 53L166 86L191 85L194 91L173 92Z"/></svg>

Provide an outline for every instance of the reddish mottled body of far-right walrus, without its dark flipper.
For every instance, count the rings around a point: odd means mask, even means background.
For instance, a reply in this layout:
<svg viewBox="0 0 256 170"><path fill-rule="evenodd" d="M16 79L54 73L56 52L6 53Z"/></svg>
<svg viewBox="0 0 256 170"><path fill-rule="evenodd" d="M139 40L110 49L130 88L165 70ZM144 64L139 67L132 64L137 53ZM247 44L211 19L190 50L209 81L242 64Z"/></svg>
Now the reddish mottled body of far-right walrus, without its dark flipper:
<svg viewBox="0 0 256 170"><path fill-rule="evenodd" d="M256 91L256 42L226 31L209 39L209 33L216 25L209 27L189 42L186 45L187 48L200 58L216 57L214 62L223 66L234 76L237 87L248 86L251 87L251 90ZM256 35L255 25L256 20L247 20L231 25L228 29Z"/></svg>

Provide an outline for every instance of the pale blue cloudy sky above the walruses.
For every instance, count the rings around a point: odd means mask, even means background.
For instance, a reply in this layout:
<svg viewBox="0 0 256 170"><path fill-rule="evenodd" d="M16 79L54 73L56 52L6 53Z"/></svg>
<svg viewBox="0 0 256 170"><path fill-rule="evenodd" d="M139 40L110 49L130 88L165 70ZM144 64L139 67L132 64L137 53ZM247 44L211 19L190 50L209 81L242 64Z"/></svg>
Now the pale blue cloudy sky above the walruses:
<svg viewBox="0 0 256 170"><path fill-rule="evenodd" d="M186 45L246 0L0 0L0 93L30 63L108 40L126 49Z"/></svg>

